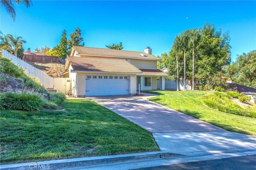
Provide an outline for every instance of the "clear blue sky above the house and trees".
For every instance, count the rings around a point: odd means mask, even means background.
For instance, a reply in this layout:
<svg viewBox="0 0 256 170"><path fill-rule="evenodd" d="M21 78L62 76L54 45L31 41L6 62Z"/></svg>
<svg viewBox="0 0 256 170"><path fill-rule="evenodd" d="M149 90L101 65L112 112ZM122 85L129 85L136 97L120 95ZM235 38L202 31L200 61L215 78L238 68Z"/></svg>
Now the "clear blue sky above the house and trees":
<svg viewBox="0 0 256 170"><path fill-rule="evenodd" d="M106 48L122 42L128 51L170 51L176 35L212 23L230 31L232 61L256 49L256 1L32 1L15 6L16 20L0 11L0 30L22 36L24 50L56 46L66 29L82 30L85 46Z"/></svg>

